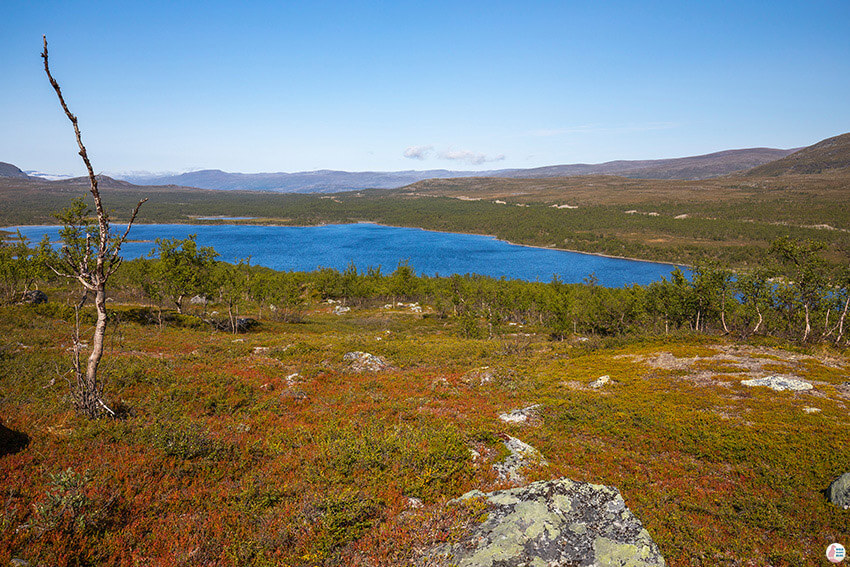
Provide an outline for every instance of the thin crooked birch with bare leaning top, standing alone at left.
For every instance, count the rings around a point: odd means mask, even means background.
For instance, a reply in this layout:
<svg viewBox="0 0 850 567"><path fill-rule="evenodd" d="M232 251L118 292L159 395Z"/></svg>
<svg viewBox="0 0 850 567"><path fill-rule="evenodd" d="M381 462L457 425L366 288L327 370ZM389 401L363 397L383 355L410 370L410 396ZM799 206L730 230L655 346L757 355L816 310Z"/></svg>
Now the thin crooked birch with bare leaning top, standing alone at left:
<svg viewBox="0 0 850 567"><path fill-rule="evenodd" d="M94 326L91 354L89 354L85 368L83 368L80 358L81 342L79 339L79 319L77 320L72 363L74 382L71 384L71 397L73 399L74 409L80 415L97 417L103 412L106 412L114 416L115 413L103 401L103 385L97 379L97 369L100 359L103 357L104 337L106 335L106 282L115 273L118 266L121 265L121 257L118 255L121 251L121 246L127 239L127 234L136 220L139 208L147 199L139 201L139 204L133 209L130 222L127 223L127 229L122 235L117 236L110 233L109 216L103 208L100 191L97 187L97 176L94 173L91 161L89 161L86 147L83 145L80 127L77 124L77 117L68 109L68 105L65 103L65 97L62 96L62 89L59 88L59 83L56 82L56 79L50 73L50 66L47 60L47 36L43 36L43 39L44 51L41 53L41 58L44 60L44 72L47 74L53 90L56 91L56 96L59 97L59 104L62 106L65 116L68 117L68 120L74 126L77 146L80 148L79 154L88 171L89 192L94 198L95 212L97 214L98 232L94 235L95 241L92 242L93 235L86 231L84 239L81 238L78 242L78 246L76 247L78 250L74 251L69 246L64 246L61 254L61 266L53 267L53 271L58 275L78 281L83 286L86 294L94 294L94 305L97 309L97 321ZM83 250L79 250L81 247Z"/></svg>

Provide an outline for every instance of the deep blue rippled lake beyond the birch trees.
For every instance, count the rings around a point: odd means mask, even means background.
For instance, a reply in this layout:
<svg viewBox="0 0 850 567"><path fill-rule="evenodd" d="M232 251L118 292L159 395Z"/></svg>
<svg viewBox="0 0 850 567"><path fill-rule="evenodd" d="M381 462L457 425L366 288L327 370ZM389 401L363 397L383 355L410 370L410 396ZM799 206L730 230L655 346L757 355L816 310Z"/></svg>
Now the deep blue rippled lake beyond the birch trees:
<svg viewBox="0 0 850 567"><path fill-rule="evenodd" d="M59 227L24 226L33 243L49 234L59 239ZM123 230L115 225L116 231ZM133 226L122 255L148 255L157 238L186 238L197 234L200 246L212 246L220 259L234 262L251 256L251 263L278 270L310 271L318 267L358 270L381 267L386 274L407 261L420 275L482 274L527 281L550 281L557 275L578 283L594 274L600 285L622 287L660 280L670 264L606 258L592 254L519 246L491 236L433 232L369 223L310 227L252 225L140 224ZM138 242L144 241L144 242Z"/></svg>

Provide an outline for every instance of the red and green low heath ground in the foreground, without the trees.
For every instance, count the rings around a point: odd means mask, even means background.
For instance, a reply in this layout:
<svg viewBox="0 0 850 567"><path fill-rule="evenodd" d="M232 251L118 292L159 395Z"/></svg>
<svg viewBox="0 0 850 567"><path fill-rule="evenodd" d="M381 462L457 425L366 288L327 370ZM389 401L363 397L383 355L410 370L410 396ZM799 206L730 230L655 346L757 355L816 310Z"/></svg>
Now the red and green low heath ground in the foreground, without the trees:
<svg viewBox="0 0 850 567"><path fill-rule="evenodd" d="M841 352L518 325L466 339L378 306L233 335L116 305L102 374L120 419L87 421L50 305L0 308L0 565L411 564L486 513L449 500L506 486L470 456L503 456L502 434L548 460L528 480L618 487L672 566L821 565L850 544L824 496L850 470ZM392 367L353 372L349 351ZM770 373L814 389L741 385ZM498 419L531 404L528 424Z"/></svg>

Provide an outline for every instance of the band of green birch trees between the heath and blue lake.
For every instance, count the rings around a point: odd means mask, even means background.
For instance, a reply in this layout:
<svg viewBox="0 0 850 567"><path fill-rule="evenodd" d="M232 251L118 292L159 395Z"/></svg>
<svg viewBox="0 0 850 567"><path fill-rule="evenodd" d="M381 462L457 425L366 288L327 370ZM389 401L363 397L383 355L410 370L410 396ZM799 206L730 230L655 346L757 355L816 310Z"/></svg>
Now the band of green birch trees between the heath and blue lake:
<svg viewBox="0 0 850 567"><path fill-rule="evenodd" d="M470 338L496 337L515 325L548 331L555 340L582 336L653 336L699 332L736 336L772 336L799 343L830 342L847 346L850 311L850 268L830 267L816 244L777 241L771 261L758 269L735 273L716 261L697 263L690 277L675 270L645 286L606 288L594 278L581 284L495 279L478 275L417 276L402 262L389 273L380 268L343 271L282 272L247 261L228 264L212 248L193 237L157 241L147 259L133 260L118 273L116 289L125 296L155 305L160 325L164 302L187 310L187 298L204 298L198 324L240 332L241 314L265 314L300 321L305 306L326 300L350 306L419 302L436 316L456 319ZM19 253L38 262L31 249ZM43 254L42 254L43 255ZM4 257L0 254L0 259ZM0 274L2 274L0 262ZM207 309L227 312L227 321ZM168 311L168 309L166 309ZM215 320L214 320L215 319Z"/></svg>

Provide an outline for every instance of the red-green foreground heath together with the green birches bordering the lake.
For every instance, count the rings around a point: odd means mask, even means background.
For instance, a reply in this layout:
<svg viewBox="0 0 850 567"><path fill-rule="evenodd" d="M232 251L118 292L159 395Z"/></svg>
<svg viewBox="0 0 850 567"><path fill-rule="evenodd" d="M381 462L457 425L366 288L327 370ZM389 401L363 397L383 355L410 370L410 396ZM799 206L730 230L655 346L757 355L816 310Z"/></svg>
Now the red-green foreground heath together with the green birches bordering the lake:
<svg viewBox="0 0 850 567"><path fill-rule="evenodd" d="M12 239L0 563L411 564L486 515L450 501L508 484L489 465L510 434L548 461L529 481L618 487L670 565L818 565L850 533L823 495L850 462L850 277L828 253L779 240L758 269L609 289L278 272L161 240L110 280L118 417L87 419L61 368L96 310L75 313L46 243ZM49 301L22 303L35 288ZM352 351L392 366L354 371ZM815 388L741 384L764 373ZM532 404L531 424L498 419Z"/></svg>

